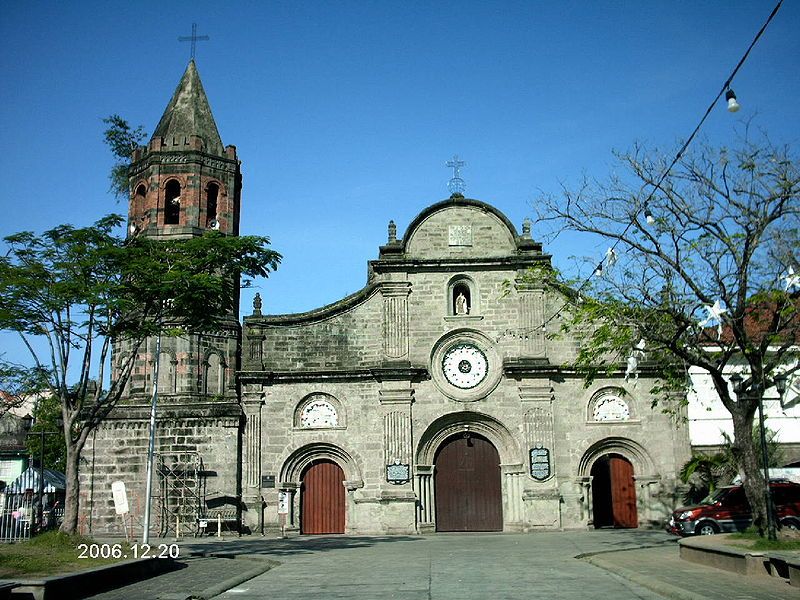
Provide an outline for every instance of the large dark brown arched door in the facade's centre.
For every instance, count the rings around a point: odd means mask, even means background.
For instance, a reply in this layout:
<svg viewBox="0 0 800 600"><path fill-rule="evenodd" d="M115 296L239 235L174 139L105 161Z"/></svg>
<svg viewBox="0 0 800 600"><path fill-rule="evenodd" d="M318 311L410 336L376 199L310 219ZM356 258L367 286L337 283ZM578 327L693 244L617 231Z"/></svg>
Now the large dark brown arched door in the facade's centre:
<svg viewBox="0 0 800 600"><path fill-rule="evenodd" d="M451 438L435 467L437 531L502 531L500 455L489 440Z"/></svg>

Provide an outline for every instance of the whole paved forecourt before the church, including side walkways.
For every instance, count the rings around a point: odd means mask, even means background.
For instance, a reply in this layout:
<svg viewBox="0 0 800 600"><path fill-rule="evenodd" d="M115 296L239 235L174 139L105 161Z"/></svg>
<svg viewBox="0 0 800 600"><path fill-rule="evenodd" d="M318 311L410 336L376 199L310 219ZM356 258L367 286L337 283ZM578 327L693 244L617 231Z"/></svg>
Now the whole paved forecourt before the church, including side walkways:
<svg viewBox="0 0 800 600"><path fill-rule="evenodd" d="M676 538L653 531L205 539L181 553L185 568L92 598L800 598L779 581L683 561Z"/></svg>

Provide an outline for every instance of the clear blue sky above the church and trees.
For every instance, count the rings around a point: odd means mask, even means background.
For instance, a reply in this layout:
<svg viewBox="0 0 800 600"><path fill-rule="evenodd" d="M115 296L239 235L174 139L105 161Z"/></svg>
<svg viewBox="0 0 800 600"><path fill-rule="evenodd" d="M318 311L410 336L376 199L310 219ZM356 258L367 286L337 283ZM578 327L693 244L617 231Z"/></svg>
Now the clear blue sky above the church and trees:
<svg viewBox="0 0 800 600"><path fill-rule="evenodd" d="M242 233L284 255L259 283L266 313L360 289L398 234L448 196L519 228L533 205L613 170L635 142L674 153L775 0L597 2L5 2L0 19L0 236L126 212L108 193L101 119L152 132L189 58L243 161ZM800 3L787 2L702 134L744 123L800 139ZM534 224L533 235L544 232ZM546 245L569 266L604 247ZM252 293L245 294L249 313ZM0 353L2 352L0 347Z"/></svg>

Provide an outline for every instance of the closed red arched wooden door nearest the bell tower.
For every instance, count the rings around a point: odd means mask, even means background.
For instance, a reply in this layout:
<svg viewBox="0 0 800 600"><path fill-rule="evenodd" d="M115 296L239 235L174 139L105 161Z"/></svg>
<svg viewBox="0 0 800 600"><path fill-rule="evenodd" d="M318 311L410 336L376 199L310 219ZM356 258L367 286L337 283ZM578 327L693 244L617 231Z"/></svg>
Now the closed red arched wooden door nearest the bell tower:
<svg viewBox="0 0 800 600"><path fill-rule="evenodd" d="M320 460L303 473L300 491L302 533L344 533L344 472Z"/></svg>

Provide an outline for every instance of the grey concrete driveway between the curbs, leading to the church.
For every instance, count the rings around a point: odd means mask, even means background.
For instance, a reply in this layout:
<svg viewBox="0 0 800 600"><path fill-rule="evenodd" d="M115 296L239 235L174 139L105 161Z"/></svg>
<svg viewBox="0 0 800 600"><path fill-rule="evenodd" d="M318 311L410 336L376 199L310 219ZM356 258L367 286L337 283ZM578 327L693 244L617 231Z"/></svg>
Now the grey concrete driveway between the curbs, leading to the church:
<svg viewBox="0 0 800 600"><path fill-rule="evenodd" d="M623 538L614 533L328 538L328 547L277 557L281 566L220 598L661 598L574 558L583 552L630 546L637 537L664 539L660 534Z"/></svg>

